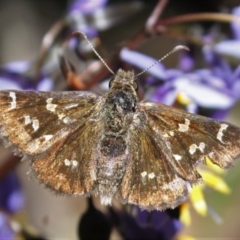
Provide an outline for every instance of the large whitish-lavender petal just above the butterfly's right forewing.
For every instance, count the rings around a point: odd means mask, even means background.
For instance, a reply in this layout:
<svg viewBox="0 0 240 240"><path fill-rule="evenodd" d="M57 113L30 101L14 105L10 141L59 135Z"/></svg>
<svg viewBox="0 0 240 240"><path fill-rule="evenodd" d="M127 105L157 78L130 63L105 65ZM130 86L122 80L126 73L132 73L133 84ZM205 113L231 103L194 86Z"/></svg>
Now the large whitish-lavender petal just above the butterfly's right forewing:
<svg viewBox="0 0 240 240"><path fill-rule="evenodd" d="M230 108L236 101L233 97L207 85L194 82L187 76L176 79L174 85L202 107L226 109Z"/></svg>

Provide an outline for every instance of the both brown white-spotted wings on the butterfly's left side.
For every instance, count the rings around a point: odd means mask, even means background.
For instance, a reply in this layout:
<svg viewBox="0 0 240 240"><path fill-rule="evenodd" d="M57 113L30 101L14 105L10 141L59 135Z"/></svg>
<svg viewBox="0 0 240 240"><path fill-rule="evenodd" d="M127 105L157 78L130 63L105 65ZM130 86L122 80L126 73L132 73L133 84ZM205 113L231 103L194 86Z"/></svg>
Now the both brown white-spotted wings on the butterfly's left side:
<svg viewBox="0 0 240 240"><path fill-rule="evenodd" d="M90 92L1 91L1 137L32 160L33 174L47 187L87 193L95 181L101 105L102 97Z"/></svg>

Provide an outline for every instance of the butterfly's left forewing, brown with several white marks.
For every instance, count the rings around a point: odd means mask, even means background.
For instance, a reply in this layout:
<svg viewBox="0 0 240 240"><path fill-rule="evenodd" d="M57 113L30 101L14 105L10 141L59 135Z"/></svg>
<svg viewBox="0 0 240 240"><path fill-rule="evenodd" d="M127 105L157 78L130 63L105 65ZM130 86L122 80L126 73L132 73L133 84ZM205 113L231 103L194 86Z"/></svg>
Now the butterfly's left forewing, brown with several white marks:
<svg viewBox="0 0 240 240"><path fill-rule="evenodd" d="M100 100L90 92L0 91L1 139L17 153L43 153L85 123Z"/></svg>

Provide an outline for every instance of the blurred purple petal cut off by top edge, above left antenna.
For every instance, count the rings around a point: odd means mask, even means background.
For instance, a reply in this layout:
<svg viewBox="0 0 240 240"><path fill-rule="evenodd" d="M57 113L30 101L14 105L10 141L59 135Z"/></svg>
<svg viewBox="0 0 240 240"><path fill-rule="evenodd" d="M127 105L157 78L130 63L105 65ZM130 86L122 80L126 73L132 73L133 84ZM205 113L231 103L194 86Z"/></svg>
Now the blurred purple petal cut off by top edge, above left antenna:
<svg viewBox="0 0 240 240"><path fill-rule="evenodd" d="M68 9L68 11L70 13L77 12L77 13L89 14L104 7L107 2L108 0L94 0L94 1L75 0L73 4L70 6L70 8Z"/></svg>

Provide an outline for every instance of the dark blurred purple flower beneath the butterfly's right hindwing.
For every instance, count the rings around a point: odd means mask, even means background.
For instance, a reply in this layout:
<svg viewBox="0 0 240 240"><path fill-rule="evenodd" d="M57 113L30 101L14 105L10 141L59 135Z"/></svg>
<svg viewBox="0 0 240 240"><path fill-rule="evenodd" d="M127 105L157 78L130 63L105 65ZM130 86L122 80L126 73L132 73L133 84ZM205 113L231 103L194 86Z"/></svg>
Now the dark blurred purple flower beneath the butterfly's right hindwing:
<svg viewBox="0 0 240 240"><path fill-rule="evenodd" d="M178 211L178 208L172 211ZM110 208L110 212L117 230L124 239L168 240L173 239L182 228L179 216L175 218L168 211L148 212L132 206L131 211Z"/></svg>

